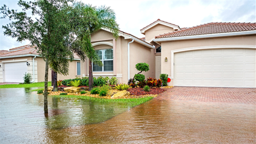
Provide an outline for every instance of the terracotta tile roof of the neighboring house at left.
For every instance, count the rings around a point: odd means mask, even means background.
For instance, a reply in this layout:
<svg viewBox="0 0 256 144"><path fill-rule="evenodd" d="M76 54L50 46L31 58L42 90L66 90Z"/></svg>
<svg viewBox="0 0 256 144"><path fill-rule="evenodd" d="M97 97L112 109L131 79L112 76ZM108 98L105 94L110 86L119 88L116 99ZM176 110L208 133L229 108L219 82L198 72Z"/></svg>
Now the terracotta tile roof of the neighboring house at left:
<svg viewBox="0 0 256 144"><path fill-rule="evenodd" d="M10 49L10 50L16 50L16 51L7 51L6 53L0 54L0 57L8 57L8 56L22 55L22 54L38 54L37 50L35 49L35 46L30 46L30 45L15 47L15 48ZM2 51L4 51L4 50L2 50ZM76 55L76 54L74 54L74 58L75 59L80 59L78 57L78 55Z"/></svg>

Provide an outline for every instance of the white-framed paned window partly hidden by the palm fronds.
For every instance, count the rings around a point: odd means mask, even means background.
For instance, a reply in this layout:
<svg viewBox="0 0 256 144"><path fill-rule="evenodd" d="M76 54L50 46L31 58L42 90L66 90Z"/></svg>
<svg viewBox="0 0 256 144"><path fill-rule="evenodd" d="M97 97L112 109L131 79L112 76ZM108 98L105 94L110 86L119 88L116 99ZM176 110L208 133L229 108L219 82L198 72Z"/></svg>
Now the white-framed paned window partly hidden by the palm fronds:
<svg viewBox="0 0 256 144"><path fill-rule="evenodd" d="M92 71L113 71L113 49L96 50L96 53L99 55L103 67L92 63Z"/></svg>

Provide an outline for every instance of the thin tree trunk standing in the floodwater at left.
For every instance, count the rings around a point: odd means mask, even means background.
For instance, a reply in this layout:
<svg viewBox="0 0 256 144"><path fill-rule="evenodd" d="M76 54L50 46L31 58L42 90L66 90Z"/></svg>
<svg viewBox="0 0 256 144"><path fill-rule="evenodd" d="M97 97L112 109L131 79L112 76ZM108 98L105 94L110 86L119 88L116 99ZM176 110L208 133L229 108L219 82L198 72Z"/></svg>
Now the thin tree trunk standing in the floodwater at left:
<svg viewBox="0 0 256 144"><path fill-rule="evenodd" d="M45 60L45 76L44 76L44 113L48 113L48 70L49 70L49 60Z"/></svg>

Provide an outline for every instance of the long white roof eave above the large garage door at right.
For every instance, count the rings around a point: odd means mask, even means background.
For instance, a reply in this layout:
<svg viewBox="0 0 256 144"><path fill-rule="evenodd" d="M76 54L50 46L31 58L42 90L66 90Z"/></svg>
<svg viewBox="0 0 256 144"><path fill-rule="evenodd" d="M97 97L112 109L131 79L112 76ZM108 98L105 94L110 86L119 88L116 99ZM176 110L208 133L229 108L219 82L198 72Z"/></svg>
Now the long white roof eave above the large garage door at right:
<svg viewBox="0 0 256 144"><path fill-rule="evenodd" d="M199 39L199 38L212 38L212 37L227 37L227 36L241 36L241 35L254 35L256 30L250 31L237 31L230 33L218 33L218 34L206 34L206 35L193 35L193 36L180 36L180 37L166 37L166 38L156 38L154 42L165 42L165 41L180 41L186 39Z"/></svg>

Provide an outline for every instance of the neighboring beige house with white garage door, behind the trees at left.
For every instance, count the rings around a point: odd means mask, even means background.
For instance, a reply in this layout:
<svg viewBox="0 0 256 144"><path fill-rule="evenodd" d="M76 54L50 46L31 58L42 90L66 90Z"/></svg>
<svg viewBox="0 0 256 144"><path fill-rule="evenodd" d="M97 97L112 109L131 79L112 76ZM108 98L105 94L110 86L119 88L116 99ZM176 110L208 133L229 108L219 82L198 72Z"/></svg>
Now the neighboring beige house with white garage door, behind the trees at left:
<svg viewBox="0 0 256 144"><path fill-rule="evenodd" d="M75 56L75 60L69 63L69 75L63 76L58 74L57 77L58 79L80 77L79 70L80 59ZM44 82L45 62L38 55L35 47L24 45L0 53L0 82L22 83L25 73L31 74L31 81ZM49 69L48 80L51 81L51 69Z"/></svg>

